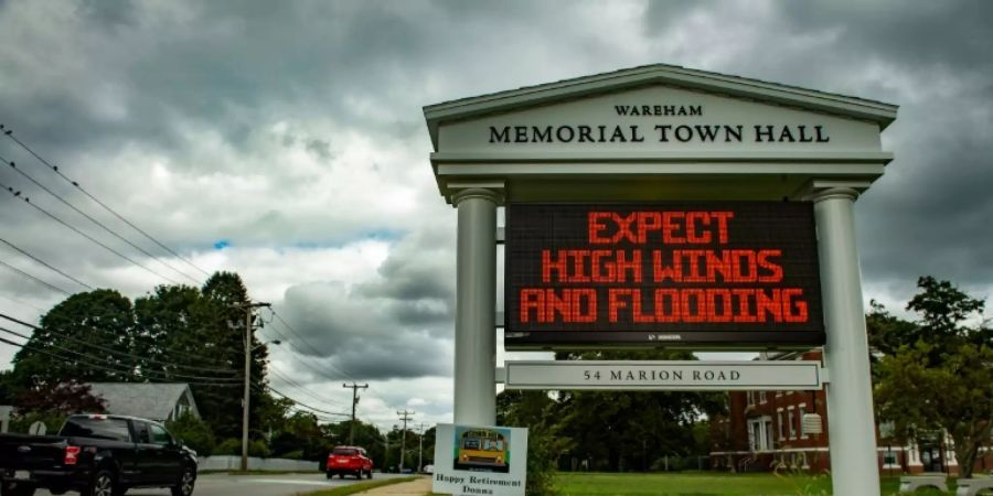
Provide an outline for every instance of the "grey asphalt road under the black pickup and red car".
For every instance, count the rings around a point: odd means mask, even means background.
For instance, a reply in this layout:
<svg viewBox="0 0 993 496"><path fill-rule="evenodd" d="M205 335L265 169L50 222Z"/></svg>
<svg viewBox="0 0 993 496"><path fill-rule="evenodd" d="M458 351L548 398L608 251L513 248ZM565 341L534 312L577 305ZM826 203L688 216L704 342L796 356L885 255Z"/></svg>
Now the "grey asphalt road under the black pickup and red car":
<svg viewBox="0 0 993 496"><path fill-rule="evenodd" d="M406 477L408 474L374 473L373 481ZM367 481L365 478L362 479ZM196 477L193 496L291 496L331 487L355 484L355 477L334 477L328 479L324 474L282 474L282 475L227 475L206 474ZM51 493L39 489L35 496L50 496ZM66 493L78 495L78 493ZM127 496L170 496L169 489L130 489Z"/></svg>

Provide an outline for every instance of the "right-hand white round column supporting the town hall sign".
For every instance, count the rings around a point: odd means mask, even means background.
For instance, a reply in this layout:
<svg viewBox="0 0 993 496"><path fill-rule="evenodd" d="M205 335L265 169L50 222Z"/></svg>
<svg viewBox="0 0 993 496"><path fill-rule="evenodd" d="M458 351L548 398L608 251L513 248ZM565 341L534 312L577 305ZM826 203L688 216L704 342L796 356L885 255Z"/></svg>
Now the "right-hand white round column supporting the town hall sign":
<svg viewBox="0 0 993 496"><path fill-rule="evenodd" d="M824 363L831 374L831 479L834 494L879 496L868 339L855 248L857 196L854 190L834 187L813 197L828 333Z"/></svg>

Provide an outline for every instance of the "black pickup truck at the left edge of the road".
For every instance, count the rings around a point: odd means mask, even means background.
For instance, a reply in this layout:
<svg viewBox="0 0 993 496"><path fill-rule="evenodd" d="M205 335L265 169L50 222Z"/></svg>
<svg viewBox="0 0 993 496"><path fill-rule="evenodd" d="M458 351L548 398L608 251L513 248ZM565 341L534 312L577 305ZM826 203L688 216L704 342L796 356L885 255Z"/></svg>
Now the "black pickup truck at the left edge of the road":
<svg viewBox="0 0 993 496"><path fill-rule="evenodd" d="M162 424L119 416L72 416L58 435L0 434L0 496L78 490L121 496L131 487L169 487L190 496L196 453Z"/></svg>

